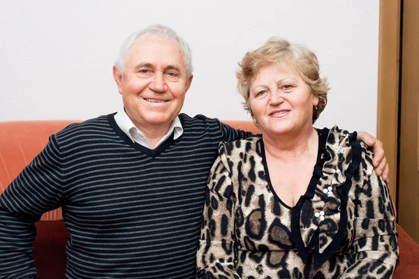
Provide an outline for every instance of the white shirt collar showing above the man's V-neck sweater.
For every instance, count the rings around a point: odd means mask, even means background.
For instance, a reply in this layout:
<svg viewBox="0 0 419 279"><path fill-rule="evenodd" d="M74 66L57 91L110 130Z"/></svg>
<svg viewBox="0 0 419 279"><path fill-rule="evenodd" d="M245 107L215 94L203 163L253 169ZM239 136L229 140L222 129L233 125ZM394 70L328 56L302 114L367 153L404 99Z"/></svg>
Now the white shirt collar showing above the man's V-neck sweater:
<svg viewBox="0 0 419 279"><path fill-rule="evenodd" d="M138 144L141 144L148 149L153 149L145 138L145 135L140 131L140 129L135 127L133 121L131 121L124 109L119 110L119 112L115 114L114 118L119 128L121 128L125 135L127 135L133 142L137 142ZM154 149L162 144L172 133L174 133L174 140L180 137L183 133L182 123L180 123L179 116L176 116L176 118L172 121L168 133L166 133L166 135L164 135L161 140L157 142L156 146L154 146Z"/></svg>

